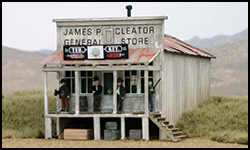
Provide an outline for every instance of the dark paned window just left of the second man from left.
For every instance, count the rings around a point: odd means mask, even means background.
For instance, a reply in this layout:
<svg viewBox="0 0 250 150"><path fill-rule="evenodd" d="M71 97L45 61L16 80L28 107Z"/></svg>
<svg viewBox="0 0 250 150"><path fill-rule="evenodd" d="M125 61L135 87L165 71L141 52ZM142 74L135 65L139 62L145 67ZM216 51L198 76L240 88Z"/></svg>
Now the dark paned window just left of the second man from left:
<svg viewBox="0 0 250 150"><path fill-rule="evenodd" d="M92 93L93 71L81 71L81 93Z"/></svg>

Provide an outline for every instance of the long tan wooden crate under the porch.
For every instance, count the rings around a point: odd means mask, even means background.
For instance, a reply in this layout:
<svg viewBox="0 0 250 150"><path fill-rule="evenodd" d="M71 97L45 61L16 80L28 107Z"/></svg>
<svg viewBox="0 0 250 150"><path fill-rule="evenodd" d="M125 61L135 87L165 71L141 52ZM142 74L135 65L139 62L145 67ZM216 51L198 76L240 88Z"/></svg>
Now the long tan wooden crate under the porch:
<svg viewBox="0 0 250 150"><path fill-rule="evenodd" d="M93 129L64 129L63 138L66 140L93 139Z"/></svg>

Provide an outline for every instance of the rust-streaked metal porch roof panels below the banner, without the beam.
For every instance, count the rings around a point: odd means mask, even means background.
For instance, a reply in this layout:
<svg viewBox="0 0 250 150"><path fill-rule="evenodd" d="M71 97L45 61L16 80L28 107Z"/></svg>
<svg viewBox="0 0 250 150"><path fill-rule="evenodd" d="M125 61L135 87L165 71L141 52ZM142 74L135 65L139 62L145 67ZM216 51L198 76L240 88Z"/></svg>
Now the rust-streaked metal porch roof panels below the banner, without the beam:
<svg viewBox="0 0 250 150"><path fill-rule="evenodd" d="M127 64L127 63L150 63L159 54L159 48L129 49L128 59L106 60L64 60L63 51L57 50L43 60L42 64Z"/></svg>

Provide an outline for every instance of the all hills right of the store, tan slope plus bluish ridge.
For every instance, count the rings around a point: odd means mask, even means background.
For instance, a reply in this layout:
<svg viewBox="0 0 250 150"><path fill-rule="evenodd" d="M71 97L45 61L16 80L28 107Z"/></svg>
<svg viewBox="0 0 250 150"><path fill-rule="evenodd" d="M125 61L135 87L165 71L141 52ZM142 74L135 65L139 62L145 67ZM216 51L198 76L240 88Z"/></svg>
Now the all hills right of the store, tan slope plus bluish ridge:
<svg viewBox="0 0 250 150"><path fill-rule="evenodd" d="M185 42L216 56L212 59L212 94L248 95L248 28L231 36L195 36Z"/></svg>

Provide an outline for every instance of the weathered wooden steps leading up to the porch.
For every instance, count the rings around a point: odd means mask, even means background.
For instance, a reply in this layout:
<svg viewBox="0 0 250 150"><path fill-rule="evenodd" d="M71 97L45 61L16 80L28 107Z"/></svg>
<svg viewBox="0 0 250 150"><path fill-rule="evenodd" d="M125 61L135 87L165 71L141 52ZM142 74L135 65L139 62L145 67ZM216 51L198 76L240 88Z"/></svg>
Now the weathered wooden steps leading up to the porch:
<svg viewBox="0 0 250 150"><path fill-rule="evenodd" d="M186 138L187 135L184 135L183 132L179 132L179 128L175 128L174 125L169 124L169 121L166 118L162 117L160 113L150 112L149 118L161 129L172 141L178 142L183 138Z"/></svg>

